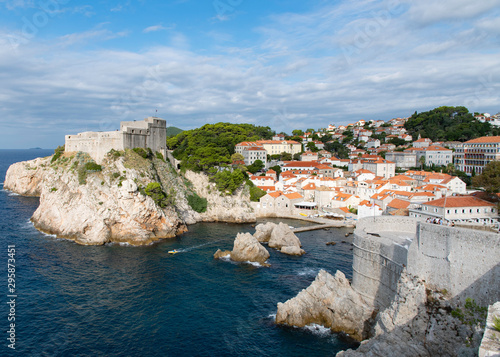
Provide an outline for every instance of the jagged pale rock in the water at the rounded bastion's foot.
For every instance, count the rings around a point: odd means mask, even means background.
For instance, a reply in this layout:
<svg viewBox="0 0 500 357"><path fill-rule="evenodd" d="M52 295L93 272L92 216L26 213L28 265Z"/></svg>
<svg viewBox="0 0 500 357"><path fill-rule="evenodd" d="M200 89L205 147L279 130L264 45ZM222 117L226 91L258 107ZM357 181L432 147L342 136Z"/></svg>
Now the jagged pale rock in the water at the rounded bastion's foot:
<svg viewBox="0 0 500 357"><path fill-rule="evenodd" d="M373 313L341 271L332 276L321 270L307 289L278 303L276 323L298 327L315 323L361 341L369 336Z"/></svg>

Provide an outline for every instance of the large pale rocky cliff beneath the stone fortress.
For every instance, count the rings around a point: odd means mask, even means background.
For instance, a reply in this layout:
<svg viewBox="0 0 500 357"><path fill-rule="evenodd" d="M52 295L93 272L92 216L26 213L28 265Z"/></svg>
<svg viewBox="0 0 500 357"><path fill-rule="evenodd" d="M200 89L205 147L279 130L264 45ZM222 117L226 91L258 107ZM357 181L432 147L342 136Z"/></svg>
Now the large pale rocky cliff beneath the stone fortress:
<svg viewBox="0 0 500 357"><path fill-rule="evenodd" d="M86 169L89 161L85 154L66 153L53 163L50 157L16 163L7 171L4 188L40 196L32 217L37 229L85 245L149 244L187 231L186 223L210 218L245 221L242 211L234 209L248 202L241 193L222 198L226 205L218 207L214 192L214 197L207 197L207 213L193 211L186 199L191 192L188 182L156 157L144 159L127 150L108 155L101 171ZM160 185L161 204L154 194L145 194L150 183ZM216 214L222 211L225 214Z"/></svg>

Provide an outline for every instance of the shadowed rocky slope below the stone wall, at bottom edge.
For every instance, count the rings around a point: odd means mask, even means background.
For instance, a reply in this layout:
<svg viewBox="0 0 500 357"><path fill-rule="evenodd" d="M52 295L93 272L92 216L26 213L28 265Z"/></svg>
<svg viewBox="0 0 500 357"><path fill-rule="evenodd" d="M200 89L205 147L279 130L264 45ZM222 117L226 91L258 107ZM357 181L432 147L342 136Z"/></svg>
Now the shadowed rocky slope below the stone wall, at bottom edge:
<svg viewBox="0 0 500 357"><path fill-rule="evenodd" d="M453 306L439 292L403 272L391 306L381 312L374 337L338 357L475 356L481 329L452 316ZM469 347L467 347L469 345Z"/></svg>

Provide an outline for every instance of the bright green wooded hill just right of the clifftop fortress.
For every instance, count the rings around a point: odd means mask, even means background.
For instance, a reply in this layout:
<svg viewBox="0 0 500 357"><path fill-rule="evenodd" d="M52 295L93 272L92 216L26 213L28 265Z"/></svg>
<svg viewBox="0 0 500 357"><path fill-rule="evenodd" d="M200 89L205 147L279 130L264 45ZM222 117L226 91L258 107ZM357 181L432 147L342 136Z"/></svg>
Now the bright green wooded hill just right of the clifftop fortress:
<svg viewBox="0 0 500 357"><path fill-rule="evenodd" d="M167 146L182 161L182 167L207 172L210 168L231 163L234 147L242 141L271 139L274 131L268 126L252 124L206 124L168 138Z"/></svg>

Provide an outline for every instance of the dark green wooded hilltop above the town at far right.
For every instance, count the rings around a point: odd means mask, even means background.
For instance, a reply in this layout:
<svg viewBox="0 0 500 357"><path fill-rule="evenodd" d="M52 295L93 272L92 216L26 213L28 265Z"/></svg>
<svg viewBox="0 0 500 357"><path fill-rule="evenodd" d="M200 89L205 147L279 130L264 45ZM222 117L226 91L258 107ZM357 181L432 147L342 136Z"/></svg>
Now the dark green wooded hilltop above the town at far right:
<svg viewBox="0 0 500 357"><path fill-rule="evenodd" d="M432 141L467 141L486 135L500 135L500 129L481 123L465 107L439 107L415 112L405 124L414 139L420 134Z"/></svg>

